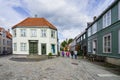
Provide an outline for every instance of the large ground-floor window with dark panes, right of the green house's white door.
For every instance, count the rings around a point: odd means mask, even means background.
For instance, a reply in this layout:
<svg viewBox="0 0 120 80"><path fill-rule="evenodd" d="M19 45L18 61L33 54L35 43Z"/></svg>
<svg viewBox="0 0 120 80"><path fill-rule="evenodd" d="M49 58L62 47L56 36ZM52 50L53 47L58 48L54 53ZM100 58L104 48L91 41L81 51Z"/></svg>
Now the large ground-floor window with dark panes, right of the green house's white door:
<svg viewBox="0 0 120 80"><path fill-rule="evenodd" d="M103 36L103 52L111 52L111 33Z"/></svg>

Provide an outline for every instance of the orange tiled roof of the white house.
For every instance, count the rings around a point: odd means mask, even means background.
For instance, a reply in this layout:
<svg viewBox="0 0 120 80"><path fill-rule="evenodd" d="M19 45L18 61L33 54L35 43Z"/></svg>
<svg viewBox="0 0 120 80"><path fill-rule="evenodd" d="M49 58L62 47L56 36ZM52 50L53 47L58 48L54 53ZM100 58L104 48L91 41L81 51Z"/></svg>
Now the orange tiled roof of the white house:
<svg viewBox="0 0 120 80"><path fill-rule="evenodd" d="M50 22L48 22L45 18L26 18L20 23L16 24L15 26L12 27L12 29L16 27L49 27L51 29L57 30L57 28L52 25Z"/></svg>

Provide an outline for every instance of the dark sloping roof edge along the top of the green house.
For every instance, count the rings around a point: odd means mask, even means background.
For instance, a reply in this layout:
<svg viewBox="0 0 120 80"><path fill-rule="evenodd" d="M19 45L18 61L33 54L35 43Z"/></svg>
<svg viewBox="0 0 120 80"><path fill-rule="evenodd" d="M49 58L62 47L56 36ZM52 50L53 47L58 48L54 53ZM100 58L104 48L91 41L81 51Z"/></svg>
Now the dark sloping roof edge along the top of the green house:
<svg viewBox="0 0 120 80"><path fill-rule="evenodd" d="M108 10L110 10L114 5L116 5L119 0L115 0L111 5L108 6L90 25L87 26L86 30L91 27L96 21L98 21Z"/></svg>

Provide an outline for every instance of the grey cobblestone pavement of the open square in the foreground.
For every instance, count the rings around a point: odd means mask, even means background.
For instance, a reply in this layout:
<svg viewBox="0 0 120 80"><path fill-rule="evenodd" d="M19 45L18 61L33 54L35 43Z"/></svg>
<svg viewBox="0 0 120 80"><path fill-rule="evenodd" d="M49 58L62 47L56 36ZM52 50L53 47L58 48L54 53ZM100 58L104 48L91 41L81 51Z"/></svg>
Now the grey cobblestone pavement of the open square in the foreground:
<svg viewBox="0 0 120 80"><path fill-rule="evenodd" d="M13 61L0 58L0 80L120 80L120 76L85 60L54 58L43 61Z"/></svg>

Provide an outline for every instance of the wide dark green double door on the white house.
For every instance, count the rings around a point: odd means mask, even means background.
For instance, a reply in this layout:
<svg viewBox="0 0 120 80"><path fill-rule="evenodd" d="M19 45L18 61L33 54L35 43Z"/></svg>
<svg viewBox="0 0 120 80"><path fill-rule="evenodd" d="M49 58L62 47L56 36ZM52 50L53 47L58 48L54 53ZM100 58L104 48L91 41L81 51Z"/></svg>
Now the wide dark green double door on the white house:
<svg viewBox="0 0 120 80"><path fill-rule="evenodd" d="M38 53L38 42L29 41L29 53L30 54L37 54Z"/></svg>

